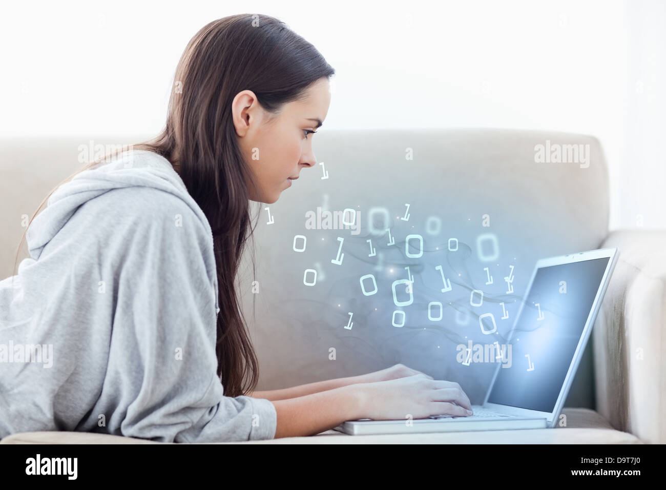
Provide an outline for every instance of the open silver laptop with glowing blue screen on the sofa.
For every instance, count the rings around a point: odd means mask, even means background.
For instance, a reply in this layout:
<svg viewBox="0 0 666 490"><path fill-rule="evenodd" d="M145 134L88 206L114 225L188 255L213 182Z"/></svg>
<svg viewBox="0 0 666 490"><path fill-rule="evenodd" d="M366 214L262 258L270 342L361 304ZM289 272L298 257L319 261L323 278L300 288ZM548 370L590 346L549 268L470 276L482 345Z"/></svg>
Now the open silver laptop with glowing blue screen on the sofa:
<svg viewBox="0 0 666 490"><path fill-rule="evenodd" d="M497 357L501 361L484 403L472 405L473 415L359 419L346 421L335 430L367 435L555 427L617 257L617 248L607 248L537 261L505 341L511 350L505 348L503 355L510 353L511 363ZM480 328L488 335L488 344L500 339L496 329L484 328L482 321ZM469 365L469 347L465 351L464 364Z"/></svg>

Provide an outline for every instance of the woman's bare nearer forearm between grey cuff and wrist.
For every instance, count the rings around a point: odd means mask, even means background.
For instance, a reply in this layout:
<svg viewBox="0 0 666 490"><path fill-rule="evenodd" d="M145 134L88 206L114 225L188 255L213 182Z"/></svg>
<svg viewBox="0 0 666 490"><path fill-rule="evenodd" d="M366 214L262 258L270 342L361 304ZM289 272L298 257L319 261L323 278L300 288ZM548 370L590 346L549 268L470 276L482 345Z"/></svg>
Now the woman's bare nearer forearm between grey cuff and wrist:
<svg viewBox="0 0 666 490"><path fill-rule="evenodd" d="M364 391L358 389L358 385L327 389L272 403L277 413L275 439L316 435L344 421L364 418L366 411Z"/></svg>

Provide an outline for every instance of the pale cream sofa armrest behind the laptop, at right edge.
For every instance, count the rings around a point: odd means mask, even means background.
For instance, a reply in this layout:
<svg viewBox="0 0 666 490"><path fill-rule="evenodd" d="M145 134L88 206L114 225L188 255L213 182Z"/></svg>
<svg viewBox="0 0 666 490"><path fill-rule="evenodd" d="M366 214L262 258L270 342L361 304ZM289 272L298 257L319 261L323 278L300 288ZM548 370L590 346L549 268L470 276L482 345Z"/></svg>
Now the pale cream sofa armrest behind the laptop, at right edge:
<svg viewBox="0 0 666 490"><path fill-rule="evenodd" d="M666 230L613 231L619 258L593 328L597 411L666 443Z"/></svg>

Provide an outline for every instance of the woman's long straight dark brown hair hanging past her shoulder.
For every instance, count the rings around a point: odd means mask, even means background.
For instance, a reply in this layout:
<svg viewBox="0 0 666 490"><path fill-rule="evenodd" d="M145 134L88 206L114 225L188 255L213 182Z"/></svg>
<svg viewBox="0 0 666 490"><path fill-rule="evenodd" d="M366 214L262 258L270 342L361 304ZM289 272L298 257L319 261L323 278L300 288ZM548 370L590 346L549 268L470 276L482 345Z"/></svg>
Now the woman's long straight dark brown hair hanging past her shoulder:
<svg viewBox="0 0 666 490"><path fill-rule="evenodd" d="M190 39L180 57L164 129L149 141L131 145L170 161L210 223L220 307L217 374L226 396L248 393L258 382L258 361L234 285L256 221L251 227L248 183L253 183L236 140L231 102L238 92L249 89L275 117L283 104L304 99L312 83L334 73L312 44L279 19L238 14L212 21ZM107 156L57 185L35 215L60 185L106 161ZM254 247L252 267L254 270Z"/></svg>

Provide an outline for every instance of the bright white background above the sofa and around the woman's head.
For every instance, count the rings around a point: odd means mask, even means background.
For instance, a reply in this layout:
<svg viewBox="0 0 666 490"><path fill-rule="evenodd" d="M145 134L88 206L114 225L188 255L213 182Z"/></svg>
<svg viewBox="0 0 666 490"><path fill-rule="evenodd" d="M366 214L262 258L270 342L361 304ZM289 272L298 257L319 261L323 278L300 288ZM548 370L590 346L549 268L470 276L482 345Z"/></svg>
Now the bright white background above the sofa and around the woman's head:
<svg viewBox="0 0 666 490"><path fill-rule="evenodd" d="M206 23L279 17L336 69L330 128L595 135L611 229L666 227L662 1L109 1L3 4L0 131L157 133Z"/></svg>

